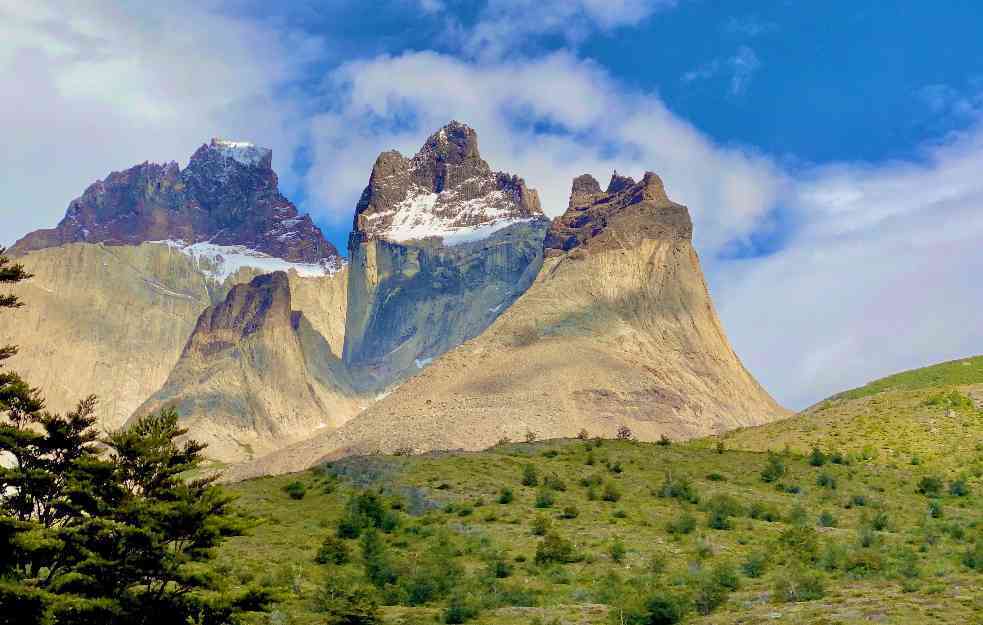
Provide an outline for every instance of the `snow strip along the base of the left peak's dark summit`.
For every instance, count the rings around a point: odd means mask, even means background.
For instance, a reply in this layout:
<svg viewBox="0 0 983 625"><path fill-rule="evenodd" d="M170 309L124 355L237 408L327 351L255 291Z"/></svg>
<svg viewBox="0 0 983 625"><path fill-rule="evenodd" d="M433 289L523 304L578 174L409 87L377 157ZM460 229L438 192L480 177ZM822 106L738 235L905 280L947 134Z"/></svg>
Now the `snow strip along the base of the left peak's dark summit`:
<svg viewBox="0 0 983 625"><path fill-rule="evenodd" d="M295 263L263 252L249 249L244 245L215 245L214 243L187 244L184 241L150 241L167 245L194 259L198 269L218 281L225 282L240 269L256 269L262 273L274 271L295 271L302 278L330 276L344 266L344 261L334 257L320 263Z"/></svg>

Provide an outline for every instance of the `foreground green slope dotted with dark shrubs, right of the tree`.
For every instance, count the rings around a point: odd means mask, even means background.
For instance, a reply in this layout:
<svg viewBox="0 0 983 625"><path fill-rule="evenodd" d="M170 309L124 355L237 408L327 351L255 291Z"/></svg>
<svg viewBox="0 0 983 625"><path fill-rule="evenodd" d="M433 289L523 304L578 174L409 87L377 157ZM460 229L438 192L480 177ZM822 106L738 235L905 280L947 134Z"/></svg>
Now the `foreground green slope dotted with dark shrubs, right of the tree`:
<svg viewBox="0 0 983 625"><path fill-rule="evenodd" d="M699 624L972 623L983 484L925 496L916 469L628 441L352 457L233 485L260 523L216 566L296 625L356 588L391 624L670 623L667 601Z"/></svg>

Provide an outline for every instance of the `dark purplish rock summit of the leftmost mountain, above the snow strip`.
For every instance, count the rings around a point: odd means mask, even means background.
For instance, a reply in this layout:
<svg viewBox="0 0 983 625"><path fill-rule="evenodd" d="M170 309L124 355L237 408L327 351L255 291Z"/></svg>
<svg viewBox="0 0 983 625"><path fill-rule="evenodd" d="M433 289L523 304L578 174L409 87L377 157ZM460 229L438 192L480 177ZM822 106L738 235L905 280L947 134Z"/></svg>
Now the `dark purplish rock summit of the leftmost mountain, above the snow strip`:
<svg viewBox="0 0 983 625"><path fill-rule="evenodd" d="M338 251L280 194L272 152L212 139L182 170L143 163L89 186L57 227L32 232L11 253L68 243L145 241L241 246L287 261L336 268Z"/></svg>

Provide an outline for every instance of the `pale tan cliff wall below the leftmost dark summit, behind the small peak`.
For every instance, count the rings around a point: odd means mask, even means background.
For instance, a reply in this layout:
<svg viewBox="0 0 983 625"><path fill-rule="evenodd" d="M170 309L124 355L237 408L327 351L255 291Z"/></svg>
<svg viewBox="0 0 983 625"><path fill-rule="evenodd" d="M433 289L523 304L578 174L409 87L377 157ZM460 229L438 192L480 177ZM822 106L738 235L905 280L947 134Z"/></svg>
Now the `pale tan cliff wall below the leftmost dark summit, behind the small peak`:
<svg viewBox="0 0 983 625"><path fill-rule="evenodd" d="M0 344L20 347L10 367L40 387L54 411L95 393L100 426L119 427L161 388L201 312L270 263L251 257L258 266L218 274L214 260L158 243L73 243L27 253L18 261L34 277L9 288L24 306L0 317ZM294 308L340 354L347 269L302 275L295 267L306 265L276 266L289 269Z"/></svg>

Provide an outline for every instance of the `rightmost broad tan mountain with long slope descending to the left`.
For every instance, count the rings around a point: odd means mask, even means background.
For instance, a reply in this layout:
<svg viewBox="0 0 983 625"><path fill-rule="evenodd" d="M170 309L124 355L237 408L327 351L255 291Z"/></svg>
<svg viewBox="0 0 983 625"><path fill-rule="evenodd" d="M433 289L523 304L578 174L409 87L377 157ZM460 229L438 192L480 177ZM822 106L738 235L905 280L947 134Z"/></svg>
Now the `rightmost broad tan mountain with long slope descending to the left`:
<svg viewBox="0 0 983 625"><path fill-rule="evenodd" d="M481 336L338 431L232 476L352 453L483 449L530 432L611 438L625 425L642 440L678 440L786 414L727 341L687 209L654 174L638 183L616 176L607 192L595 181L586 198L583 182L551 227L536 282ZM584 216L593 226L565 243L568 224Z"/></svg>

